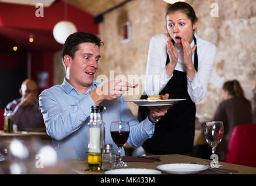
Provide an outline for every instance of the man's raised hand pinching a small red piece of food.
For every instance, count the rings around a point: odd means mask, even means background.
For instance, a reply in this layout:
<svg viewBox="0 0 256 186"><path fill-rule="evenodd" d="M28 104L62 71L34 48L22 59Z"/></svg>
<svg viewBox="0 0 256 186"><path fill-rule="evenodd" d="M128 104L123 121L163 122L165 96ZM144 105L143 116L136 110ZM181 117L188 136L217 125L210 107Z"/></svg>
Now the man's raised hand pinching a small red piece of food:
<svg viewBox="0 0 256 186"><path fill-rule="evenodd" d="M100 87L92 90L90 96L94 103L98 105L103 100L114 100L120 98L129 88L136 88L138 84L132 86L131 83L125 81L108 81Z"/></svg>

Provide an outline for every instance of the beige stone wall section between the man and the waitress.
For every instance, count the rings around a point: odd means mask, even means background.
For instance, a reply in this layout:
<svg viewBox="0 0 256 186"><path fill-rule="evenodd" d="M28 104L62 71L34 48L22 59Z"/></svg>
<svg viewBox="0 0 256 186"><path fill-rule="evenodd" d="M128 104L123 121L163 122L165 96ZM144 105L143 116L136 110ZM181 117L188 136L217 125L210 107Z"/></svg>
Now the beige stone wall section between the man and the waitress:
<svg viewBox="0 0 256 186"><path fill-rule="evenodd" d="M139 83L134 96L128 92L127 99L139 99L144 91L144 79L146 74L146 59L150 38L155 34L153 1L135 0L121 8L115 9L104 15L104 22L100 24L100 37L104 41L101 48L99 62L99 75L105 75L108 80L113 80L110 70L114 70L114 76L123 75L130 79L130 83ZM121 42L121 26L129 21L131 23L131 40ZM129 76L138 76L137 82L132 82ZM139 91L138 91L139 90ZM129 103L134 115L137 115L137 106Z"/></svg>

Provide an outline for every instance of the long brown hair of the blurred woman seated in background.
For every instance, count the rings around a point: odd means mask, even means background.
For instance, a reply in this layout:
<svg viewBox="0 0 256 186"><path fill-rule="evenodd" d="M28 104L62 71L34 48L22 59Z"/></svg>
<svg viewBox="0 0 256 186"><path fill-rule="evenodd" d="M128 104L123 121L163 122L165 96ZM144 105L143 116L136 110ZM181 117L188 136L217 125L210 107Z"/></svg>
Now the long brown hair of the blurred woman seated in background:
<svg viewBox="0 0 256 186"><path fill-rule="evenodd" d="M223 84L222 89L224 91L228 91L229 94L234 97L241 98L241 99L248 101L248 99L246 99L246 97L244 96L243 88L241 87L239 81L237 81L237 80L226 81ZM248 102L250 102L250 101L248 101Z"/></svg>

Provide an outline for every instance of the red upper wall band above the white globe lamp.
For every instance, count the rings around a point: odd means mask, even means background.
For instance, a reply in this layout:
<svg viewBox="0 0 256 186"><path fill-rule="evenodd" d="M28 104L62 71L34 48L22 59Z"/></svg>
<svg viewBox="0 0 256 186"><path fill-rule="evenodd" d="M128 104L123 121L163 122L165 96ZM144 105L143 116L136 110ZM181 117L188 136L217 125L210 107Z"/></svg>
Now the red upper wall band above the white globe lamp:
<svg viewBox="0 0 256 186"><path fill-rule="evenodd" d="M0 3L0 26L52 31L55 24L65 19L64 8L65 3L57 1L48 8L44 7L44 17L37 17L38 8L35 6ZM98 33L98 24L93 22L93 16L68 3L66 20L74 23L78 31Z"/></svg>

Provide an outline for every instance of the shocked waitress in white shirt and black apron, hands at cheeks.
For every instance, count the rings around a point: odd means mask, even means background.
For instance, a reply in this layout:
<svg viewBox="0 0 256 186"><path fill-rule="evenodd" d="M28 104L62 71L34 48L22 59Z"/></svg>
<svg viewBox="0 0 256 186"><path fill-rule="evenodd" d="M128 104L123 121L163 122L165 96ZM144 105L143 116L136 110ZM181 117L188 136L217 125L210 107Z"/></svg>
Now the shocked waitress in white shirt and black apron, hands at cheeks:
<svg viewBox="0 0 256 186"><path fill-rule="evenodd" d="M215 45L195 33L197 24L194 9L188 3L174 3L166 12L169 34L155 35L150 41L146 94L169 94L169 98L186 100L170 107L158 123L153 121L155 133L143 144L147 154L188 155L192 151L195 102L206 95L216 56ZM146 106L139 106L138 119L145 119L148 113Z"/></svg>

